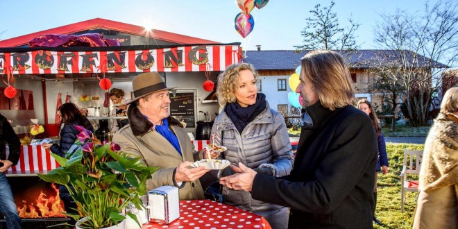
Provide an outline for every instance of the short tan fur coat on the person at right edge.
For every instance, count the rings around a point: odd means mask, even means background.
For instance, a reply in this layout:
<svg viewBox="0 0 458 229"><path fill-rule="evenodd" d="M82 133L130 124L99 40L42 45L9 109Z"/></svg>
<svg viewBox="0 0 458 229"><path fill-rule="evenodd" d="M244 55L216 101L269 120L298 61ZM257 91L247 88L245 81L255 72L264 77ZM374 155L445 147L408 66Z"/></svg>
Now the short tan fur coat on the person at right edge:
<svg viewBox="0 0 458 229"><path fill-rule="evenodd" d="M450 185L458 196L458 117L440 113L426 138L419 188L427 191Z"/></svg>

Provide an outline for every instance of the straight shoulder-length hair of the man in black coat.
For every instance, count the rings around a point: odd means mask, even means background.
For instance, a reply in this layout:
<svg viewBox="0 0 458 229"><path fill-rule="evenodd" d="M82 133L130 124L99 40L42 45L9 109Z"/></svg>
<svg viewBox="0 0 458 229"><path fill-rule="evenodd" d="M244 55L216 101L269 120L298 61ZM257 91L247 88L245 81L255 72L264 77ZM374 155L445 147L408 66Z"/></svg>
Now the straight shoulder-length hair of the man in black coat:
<svg viewBox="0 0 458 229"><path fill-rule="evenodd" d="M300 59L305 78L319 96L323 107L329 110L355 105L355 88L345 59L335 51L310 51Z"/></svg>

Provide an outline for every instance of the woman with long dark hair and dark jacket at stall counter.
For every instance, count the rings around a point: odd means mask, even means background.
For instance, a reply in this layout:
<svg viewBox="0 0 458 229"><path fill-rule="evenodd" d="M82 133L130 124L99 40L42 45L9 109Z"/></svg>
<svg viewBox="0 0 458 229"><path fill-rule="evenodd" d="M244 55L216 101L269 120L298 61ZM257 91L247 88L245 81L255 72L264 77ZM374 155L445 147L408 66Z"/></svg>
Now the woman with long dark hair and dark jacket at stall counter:
<svg viewBox="0 0 458 229"><path fill-rule="evenodd" d="M60 115L60 124L63 124L62 130L60 130L60 142L59 144L43 144L44 149L50 149L51 152L60 155L65 158L65 154L70 147L75 143L76 136L80 133L75 126L83 126L87 130L94 133L90 121L80 114L78 107L74 103L64 103L58 109ZM71 198L69 191L63 185L59 187L59 197L64 201L65 211L76 212L71 208L76 209L76 203Z"/></svg>

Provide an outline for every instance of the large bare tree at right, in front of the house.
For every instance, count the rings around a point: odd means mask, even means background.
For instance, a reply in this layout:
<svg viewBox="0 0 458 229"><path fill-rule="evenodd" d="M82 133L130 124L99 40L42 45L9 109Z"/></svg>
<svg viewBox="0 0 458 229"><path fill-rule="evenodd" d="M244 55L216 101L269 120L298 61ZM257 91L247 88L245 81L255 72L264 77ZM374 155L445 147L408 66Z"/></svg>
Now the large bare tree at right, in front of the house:
<svg viewBox="0 0 458 229"><path fill-rule="evenodd" d="M458 2L439 0L425 4L423 12L397 10L380 15L375 42L392 50L380 67L381 77L402 85L407 116L414 126L428 121L432 95L442 82L443 68L453 66L458 57Z"/></svg>

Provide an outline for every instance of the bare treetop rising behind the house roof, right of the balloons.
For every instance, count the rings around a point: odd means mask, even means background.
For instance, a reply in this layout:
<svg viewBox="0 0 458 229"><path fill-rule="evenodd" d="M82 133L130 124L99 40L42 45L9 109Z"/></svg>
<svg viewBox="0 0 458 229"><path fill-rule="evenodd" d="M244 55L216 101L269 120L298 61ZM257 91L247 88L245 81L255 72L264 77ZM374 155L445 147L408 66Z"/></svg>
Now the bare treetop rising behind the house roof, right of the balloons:
<svg viewBox="0 0 458 229"><path fill-rule="evenodd" d="M358 48L355 31L360 24L355 23L350 17L348 28L339 27L337 13L332 11L334 4L334 1L331 1L330 6L323 8L317 4L314 10L309 11L312 17L305 19L307 22L301 32L303 44L294 46L298 52L315 49L348 51Z"/></svg>

